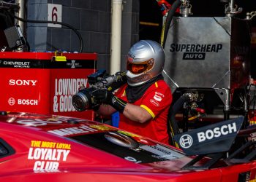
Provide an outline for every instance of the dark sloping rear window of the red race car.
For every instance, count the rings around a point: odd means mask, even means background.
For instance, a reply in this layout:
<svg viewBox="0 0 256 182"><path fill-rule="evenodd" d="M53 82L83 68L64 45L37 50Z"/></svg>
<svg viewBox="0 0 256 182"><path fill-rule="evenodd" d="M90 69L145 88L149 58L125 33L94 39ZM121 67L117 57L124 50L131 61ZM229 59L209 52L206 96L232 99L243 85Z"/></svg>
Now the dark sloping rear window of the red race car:
<svg viewBox="0 0 256 182"><path fill-rule="evenodd" d="M118 131L76 135L69 138L136 163L151 163L185 157L184 154L167 146Z"/></svg>

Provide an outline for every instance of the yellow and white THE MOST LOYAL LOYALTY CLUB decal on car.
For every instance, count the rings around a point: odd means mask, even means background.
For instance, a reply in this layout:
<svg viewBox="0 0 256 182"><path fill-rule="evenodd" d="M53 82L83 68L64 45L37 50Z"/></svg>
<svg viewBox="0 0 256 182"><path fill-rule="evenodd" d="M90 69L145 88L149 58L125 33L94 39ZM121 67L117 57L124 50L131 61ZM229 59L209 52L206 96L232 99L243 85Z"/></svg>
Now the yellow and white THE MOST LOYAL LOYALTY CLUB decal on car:
<svg viewBox="0 0 256 182"><path fill-rule="evenodd" d="M51 141L31 141L28 159L34 161L33 170L58 171L59 163L67 161L71 145Z"/></svg>

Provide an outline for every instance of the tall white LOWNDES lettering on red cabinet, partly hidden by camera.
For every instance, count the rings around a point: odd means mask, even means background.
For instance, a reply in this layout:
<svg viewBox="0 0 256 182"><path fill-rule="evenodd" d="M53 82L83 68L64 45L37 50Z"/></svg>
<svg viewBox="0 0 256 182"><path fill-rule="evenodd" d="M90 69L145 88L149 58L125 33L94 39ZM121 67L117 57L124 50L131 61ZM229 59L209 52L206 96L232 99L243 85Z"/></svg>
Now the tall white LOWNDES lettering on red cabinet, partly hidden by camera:
<svg viewBox="0 0 256 182"><path fill-rule="evenodd" d="M87 85L87 79L55 79L53 112L76 111L72 105L72 96L80 86Z"/></svg>

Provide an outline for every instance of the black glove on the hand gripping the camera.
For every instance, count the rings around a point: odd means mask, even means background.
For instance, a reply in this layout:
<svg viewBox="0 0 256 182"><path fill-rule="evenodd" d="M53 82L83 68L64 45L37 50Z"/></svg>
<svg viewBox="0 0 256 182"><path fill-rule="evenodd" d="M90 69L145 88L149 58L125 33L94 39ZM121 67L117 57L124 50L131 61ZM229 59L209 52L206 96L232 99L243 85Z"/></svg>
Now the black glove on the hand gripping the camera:
<svg viewBox="0 0 256 182"><path fill-rule="evenodd" d="M94 99L97 100L97 103L107 103L113 108L116 108L116 111L121 113L124 112L125 106L127 106L127 102L117 98L107 89L99 89L92 93L94 95Z"/></svg>

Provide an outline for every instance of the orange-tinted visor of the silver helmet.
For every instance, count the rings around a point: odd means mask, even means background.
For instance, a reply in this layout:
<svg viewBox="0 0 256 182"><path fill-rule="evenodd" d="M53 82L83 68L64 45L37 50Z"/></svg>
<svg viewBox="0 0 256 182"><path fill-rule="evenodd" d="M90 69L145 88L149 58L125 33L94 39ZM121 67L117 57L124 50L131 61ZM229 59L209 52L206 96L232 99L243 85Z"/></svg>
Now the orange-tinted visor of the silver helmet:
<svg viewBox="0 0 256 182"><path fill-rule="evenodd" d="M141 74L145 71L151 70L154 65L154 59L146 60L142 63L131 63L127 60L127 71L131 71L132 74Z"/></svg>

